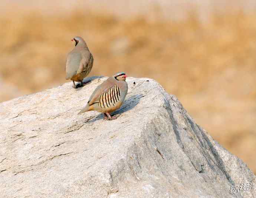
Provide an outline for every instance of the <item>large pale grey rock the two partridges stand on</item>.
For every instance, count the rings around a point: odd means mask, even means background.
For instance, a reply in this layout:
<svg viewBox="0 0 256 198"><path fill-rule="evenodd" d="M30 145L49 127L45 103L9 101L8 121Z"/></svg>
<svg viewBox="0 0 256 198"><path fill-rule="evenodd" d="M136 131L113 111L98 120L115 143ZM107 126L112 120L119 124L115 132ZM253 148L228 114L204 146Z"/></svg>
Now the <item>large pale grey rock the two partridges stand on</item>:
<svg viewBox="0 0 256 198"><path fill-rule="evenodd" d="M256 177L246 164L152 79L127 79L116 120L77 115L105 79L0 104L1 197L255 197ZM250 191L231 194L241 183L252 183Z"/></svg>

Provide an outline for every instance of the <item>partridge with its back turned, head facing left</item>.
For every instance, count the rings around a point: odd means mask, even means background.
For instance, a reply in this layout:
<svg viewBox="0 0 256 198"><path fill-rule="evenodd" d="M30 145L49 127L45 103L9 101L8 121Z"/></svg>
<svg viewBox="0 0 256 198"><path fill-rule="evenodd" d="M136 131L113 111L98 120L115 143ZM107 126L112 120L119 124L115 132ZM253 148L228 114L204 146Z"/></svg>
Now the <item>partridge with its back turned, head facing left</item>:
<svg viewBox="0 0 256 198"><path fill-rule="evenodd" d="M93 56L82 37L74 37L71 41L74 42L75 48L68 53L66 59L66 79L71 79L73 88L78 88L83 86L83 79L92 70ZM75 84L74 81L81 84Z"/></svg>

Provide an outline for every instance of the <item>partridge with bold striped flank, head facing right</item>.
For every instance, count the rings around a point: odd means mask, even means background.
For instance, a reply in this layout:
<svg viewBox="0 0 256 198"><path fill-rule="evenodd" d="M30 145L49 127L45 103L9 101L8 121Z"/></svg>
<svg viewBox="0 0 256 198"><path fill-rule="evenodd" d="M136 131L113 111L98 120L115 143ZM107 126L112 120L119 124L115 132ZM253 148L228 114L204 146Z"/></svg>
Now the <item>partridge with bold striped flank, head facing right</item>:
<svg viewBox="0 0 256 198"><path fill-rule="evenodd" d="M95 110L104 113L105 118L109 120L116 119L116 116L111 117L110 113L119 109L124 102L128 91L126 78L124 72L119 72L106 79L94 90L87 105L78 114Z"/></svg>

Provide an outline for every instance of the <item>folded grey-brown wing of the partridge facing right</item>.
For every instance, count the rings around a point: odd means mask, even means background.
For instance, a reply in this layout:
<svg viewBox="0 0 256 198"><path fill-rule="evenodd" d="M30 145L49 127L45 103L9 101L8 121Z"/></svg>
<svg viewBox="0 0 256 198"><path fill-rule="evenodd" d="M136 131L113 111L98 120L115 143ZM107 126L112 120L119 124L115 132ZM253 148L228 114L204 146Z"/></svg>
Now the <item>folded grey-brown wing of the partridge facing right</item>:
<svg viewBox="0 0 256 198"><path fill-rule="evenodd" d="M106 81L104 81L101 85L99 85L94 92L92 93L91 97L88 100L88 104L92 105L93 103L99 102L101 94L111 89L115 86L116 82L115 79L109 77Z"/></svg>

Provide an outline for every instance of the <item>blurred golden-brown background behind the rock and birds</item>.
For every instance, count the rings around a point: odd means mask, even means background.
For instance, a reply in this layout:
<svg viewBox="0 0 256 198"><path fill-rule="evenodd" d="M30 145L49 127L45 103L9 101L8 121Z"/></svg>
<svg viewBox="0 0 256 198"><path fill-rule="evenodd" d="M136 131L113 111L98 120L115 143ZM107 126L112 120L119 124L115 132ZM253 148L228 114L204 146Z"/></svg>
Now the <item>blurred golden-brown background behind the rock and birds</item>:
<svg viewBox="0 0 256 198"><path fill-rule="evenodd" d="M255 0L1 0L0 27L0 102L70 82L80 35L91 76L157 80L256 174Z"/></svg>

